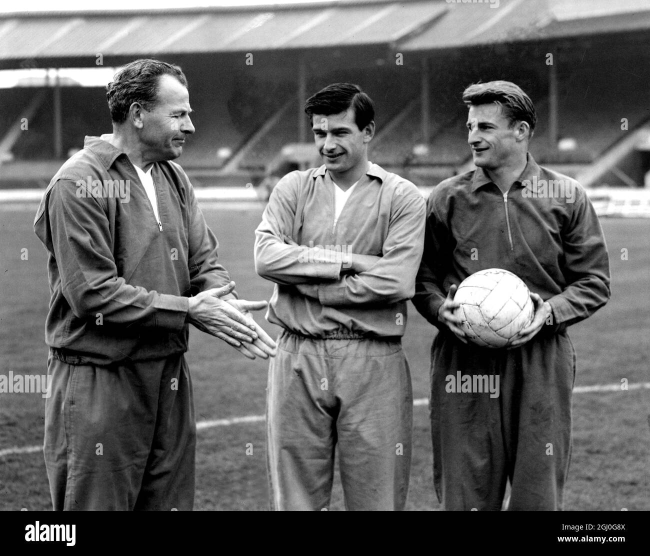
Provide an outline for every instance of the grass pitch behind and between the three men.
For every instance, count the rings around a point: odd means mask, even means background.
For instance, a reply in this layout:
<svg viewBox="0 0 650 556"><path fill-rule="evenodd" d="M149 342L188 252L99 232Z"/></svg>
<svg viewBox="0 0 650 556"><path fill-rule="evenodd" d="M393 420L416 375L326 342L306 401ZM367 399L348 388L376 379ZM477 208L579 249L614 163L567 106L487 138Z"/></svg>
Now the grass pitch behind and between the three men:
<svg viewBox="0 0 650 556"><path fill-rule="evenodd" d="M34 235L36 207L0 209L0 373L46 373L44 321L49 302L45 251ZM240 297L268 299L273 285L253 267L253 230L262 207L209 207L205 218L220 241L220 257ZM569 330L578 356L576 386L647 382L650 322L650 220L603 220L612 267L612 299ZM27 259L24 251L27 249ZM21 254L23 259L21 259ZM257 313L258 321L264 321ZM276 327L265 323L274 336ZM430 326L411 306L404 348L413 395L428 397ZM187 355L197 421L263 415L266 367L192 328ZM648 390L577 393L573 397L573 457L566 510L648 510L650 460ZM44 399L0 394L0 450L43 442ZM437 510L428 410L413 409L413 465L408 509ZM198 432L198 510L265 510L268 487L264 423ZM246 455L246 445L252 454ZM249 450L250 452L250 450ZM338 479L332 510L343 509ZM42 453L0 457L0 510L51 508Z"/></svg>

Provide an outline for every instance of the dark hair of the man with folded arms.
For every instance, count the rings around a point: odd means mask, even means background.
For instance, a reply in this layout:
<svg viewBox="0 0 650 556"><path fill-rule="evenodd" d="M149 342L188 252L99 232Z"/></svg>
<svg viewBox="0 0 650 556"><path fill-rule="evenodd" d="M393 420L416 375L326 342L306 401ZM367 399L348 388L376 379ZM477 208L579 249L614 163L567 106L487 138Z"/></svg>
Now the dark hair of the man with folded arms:
<svg viewBox="0 0 650 556"><path fill-rule="evenodd" d="M348 108L354 109L354 123L359 130L374 120L374 102L352 83L332 83L315 95L310 96L305 102L305 114L311 120L314 114L340 114Z"/></svg>

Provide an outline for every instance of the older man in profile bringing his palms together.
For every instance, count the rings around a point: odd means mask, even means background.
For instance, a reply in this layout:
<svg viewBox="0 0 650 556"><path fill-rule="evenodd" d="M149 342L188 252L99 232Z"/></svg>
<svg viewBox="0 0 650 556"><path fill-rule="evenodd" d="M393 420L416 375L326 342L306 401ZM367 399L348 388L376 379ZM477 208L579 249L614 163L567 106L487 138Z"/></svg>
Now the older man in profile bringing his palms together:
<svg viewBox="0 0 650 556"><path fill-rule="evenodd" d="M188 324L248 358L275 343L217 258L172 162L194 133L177 66L136 60L107 86L113 133L86 137L34 220L49 254L51 396L45 465L55 510L190 510L196 423Z"/></svg>

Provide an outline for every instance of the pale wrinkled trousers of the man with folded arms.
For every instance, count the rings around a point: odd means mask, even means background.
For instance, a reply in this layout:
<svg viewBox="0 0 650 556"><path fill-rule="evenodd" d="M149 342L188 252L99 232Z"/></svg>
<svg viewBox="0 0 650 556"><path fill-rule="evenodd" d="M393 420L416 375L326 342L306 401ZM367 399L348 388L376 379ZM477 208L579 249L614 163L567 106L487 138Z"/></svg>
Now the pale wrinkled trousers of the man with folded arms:
<svg viewBox="0 0 650 556"><path fill-rule="evenodd" d="M273 509L328 508L336 445L346 509L404 509L412 429L399 341L281 334L266 397Z"/></svg>

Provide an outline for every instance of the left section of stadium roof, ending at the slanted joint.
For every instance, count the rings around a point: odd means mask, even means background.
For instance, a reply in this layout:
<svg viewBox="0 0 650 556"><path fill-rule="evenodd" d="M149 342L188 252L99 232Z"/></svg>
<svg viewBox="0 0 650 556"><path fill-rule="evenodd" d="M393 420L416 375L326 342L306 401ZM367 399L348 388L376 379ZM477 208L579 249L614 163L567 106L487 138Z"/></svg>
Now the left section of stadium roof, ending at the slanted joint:
<svg viewBox="0 0 650 556"><path fill-rule="evenodd" d="M0 16L0 59L391 44L445 11L430 0Z"/></svg>

